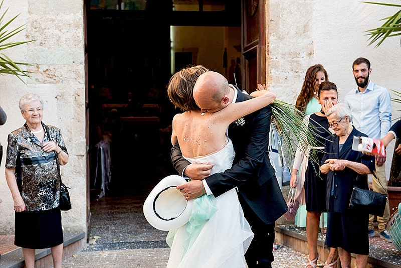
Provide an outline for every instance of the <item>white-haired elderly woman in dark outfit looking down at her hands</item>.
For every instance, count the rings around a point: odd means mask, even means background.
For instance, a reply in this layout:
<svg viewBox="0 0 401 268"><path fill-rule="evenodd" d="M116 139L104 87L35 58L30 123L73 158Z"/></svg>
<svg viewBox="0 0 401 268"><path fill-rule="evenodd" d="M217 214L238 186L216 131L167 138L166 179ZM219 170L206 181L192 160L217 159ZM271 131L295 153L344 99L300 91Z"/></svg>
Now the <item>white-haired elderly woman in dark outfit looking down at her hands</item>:
<svg viewBox="0 0 401 268"><path fill-rule="evenodd" d="M351 253L355 253L357 268L364 268L369 253L366 234L369 215L348 206L354 185L368 189L367 174L375 168L374 157L352 151L353 137L366 135L351 124L351 111L347 105L334 105L326 116L336 134L325 142L320 166L320 171L327 174L326 245L338 248L341 267L350 267Z"/></svg>

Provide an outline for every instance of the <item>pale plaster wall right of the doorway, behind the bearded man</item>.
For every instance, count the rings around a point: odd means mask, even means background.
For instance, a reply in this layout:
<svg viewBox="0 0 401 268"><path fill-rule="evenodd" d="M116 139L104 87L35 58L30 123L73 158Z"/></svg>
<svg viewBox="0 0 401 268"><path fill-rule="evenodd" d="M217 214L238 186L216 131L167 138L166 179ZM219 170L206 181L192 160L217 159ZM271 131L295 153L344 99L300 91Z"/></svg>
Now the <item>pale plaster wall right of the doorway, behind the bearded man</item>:
<svg viewBox="0 0 401 268"><path fill-rule="evenodd" d="M397 0L383 1L399 4ZM350 0L270 0L267 12L268 81L277 98L294 103L308 67L320 63L338 88L339 101L356 86L352 62L369 59L375 84L400 91L401 47L399 37L389 38L378 48L368 46L368 29L398 9ZM269 69L267 69L269 70ZM390 92L392 96L394 94ZM399 119L401 105L392 102L392 119ZM387 148L389 176L394 142Z"/></svg>

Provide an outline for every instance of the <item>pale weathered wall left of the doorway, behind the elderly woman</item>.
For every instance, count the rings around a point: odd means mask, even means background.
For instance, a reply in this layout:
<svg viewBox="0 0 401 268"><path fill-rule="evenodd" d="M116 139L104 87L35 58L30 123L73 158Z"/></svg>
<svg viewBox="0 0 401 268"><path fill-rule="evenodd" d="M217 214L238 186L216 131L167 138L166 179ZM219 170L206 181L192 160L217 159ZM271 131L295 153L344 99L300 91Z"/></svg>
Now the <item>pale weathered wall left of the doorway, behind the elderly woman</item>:
<svg viewBox="0 0 401 268"><path fill-rule="evenodd" d="M73 208L62 212L66 231L86 230L85 161L85 67L82 0L5 0L7 18L20 13L11 28L26 24L16 41L36 40L5 51L14 61L32 64L26 69L26 84L11 75L0 76L0 105L7 122L0 126L0 141L7 148L8 133L25 120L18 102L26 93L37 93L44 100L43 122L55 125L69 152L69 163L61 167L63 182L71 188ZM10 28L10 29L11 29ZM5 179L5 158L0 167L0 234L14 233L14 206Z"/></svg>

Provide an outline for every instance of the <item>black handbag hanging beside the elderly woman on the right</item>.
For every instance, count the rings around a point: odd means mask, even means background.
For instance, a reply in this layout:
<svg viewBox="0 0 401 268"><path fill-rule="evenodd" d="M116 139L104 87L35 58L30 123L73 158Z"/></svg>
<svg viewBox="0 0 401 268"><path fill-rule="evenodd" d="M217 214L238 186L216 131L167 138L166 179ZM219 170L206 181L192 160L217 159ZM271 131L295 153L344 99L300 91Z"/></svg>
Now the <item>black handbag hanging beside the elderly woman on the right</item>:
<svg viewBox="0 0 401 268"><path fill-rule="evenodd" d="M380 180L374 174L374 171L371 170L370 172L372 173L372 176L377 179L380 186L384 189L383 185L380 183ZM352 188L351 200L349 201L349 208L382 217L387 198L388 197L386 194L380 194L354 186Z"/></svg>

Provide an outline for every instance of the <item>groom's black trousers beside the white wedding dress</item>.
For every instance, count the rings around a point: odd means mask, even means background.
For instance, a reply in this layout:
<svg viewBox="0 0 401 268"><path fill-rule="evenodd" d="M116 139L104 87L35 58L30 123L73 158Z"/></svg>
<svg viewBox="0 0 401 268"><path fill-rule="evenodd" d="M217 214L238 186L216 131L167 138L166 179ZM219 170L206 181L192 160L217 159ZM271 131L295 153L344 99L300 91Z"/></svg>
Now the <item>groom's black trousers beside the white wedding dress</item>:
<svg viewBox="0 0 401 268"><path fill-rule="evenodd" d="M274 260L273 243L276 223L267 224L251 209L241 194L238 194L244 216L251 225L255 236L245 253L245 260L249 268L271 268Z"/></svg>

